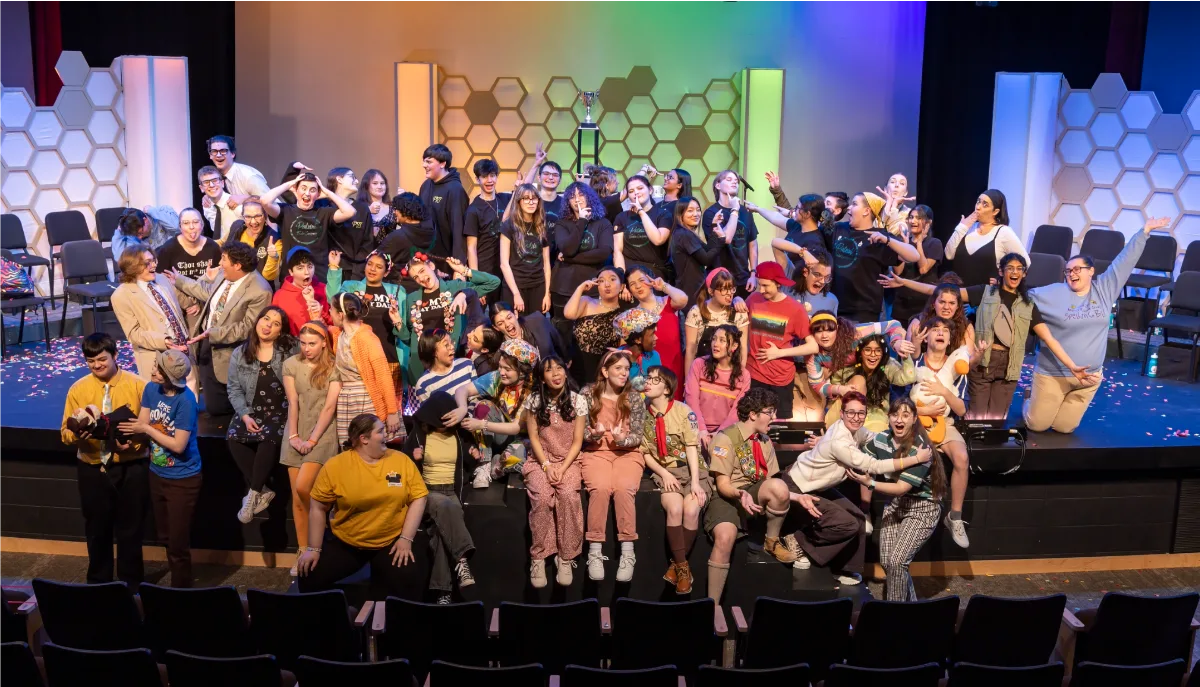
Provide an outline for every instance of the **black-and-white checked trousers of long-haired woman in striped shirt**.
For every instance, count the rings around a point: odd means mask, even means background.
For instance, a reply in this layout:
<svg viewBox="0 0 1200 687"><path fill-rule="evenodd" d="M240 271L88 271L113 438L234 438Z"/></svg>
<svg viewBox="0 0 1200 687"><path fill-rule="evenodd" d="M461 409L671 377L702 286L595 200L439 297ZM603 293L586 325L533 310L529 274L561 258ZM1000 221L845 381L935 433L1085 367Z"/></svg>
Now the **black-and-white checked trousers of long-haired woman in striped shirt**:
<svg viewBox="0 0 1200 687"><path fill-rule="evenodd" d="M880 564L888 575L887 601L918 601L908 563L929 540L942 507L936 501L896 496L883 509L880 525Z"/></svg>

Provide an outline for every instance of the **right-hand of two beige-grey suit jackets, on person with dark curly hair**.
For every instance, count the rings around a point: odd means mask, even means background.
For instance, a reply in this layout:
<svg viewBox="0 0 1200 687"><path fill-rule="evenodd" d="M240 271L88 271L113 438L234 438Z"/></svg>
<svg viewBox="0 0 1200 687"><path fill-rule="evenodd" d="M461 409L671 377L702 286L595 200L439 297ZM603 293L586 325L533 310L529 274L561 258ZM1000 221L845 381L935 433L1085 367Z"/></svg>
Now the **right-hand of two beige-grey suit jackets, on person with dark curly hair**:
<svg viewBox="0 0 1200 687"><path fill-rule="evenodd" d="M192 336L204 331L209 312L216 307L217 299L226 285L224 271L217 271L216 279L192 280L186 276L175 277L175 288L204 304L200 316L192 325ZM252 271L246 275L221 312L212 316L209 328L209 345L212 347L212 371L218 382L224 384L229 375L229 356L233 350L250 337L254 322L263 309L271 304L271 286L263 275Z"/></svg>

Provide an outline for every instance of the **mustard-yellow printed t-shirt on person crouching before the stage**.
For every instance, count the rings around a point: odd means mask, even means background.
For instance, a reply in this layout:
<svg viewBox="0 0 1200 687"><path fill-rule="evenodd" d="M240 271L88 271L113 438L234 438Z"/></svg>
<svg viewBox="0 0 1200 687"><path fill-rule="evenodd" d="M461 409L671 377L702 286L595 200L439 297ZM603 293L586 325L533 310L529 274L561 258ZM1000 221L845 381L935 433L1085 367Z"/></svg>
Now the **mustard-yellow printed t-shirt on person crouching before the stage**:
<svg viewBox="0 0 1200 687"><path fill-rule="evenodd" d="M334 506L334 534L360 549L391 545L404 527L408 506L428 492L416 465L390 449L374 465L354 450L342 452L325 462L312 486L313 498Z"/></svg>

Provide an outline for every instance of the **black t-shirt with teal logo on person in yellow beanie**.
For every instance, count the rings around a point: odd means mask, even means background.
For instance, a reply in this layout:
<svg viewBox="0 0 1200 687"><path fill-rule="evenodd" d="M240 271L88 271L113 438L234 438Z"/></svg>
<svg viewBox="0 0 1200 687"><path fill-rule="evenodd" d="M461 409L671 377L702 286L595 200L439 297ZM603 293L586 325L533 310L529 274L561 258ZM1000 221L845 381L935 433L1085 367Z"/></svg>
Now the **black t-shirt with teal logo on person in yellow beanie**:
<svg viewBox="0 0 1200 687"><path fill-rule="evenodd" d="M878 319L883 309L883 286L880 275L900 263L900 256L888 244L870 243L871 234L882 229L860 232L848 222L838 222L828 237L833 256L833 294L838 297L838 312L856 321ZM888 235L888 234L883 234ZM890 238L890 237L889 237Z"/></svg>

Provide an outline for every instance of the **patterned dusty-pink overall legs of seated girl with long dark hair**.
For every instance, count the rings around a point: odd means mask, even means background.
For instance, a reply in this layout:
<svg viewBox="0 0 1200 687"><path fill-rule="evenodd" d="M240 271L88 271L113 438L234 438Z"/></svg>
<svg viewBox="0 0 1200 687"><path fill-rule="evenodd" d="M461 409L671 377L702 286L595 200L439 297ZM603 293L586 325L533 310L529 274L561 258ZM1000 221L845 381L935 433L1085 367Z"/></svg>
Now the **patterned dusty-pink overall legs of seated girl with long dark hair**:
<svg viewBox="0 0 1200 687"><path fill-rule="evenodd" d="M551 461L556 462L556 461ZM529 495L529 532L534 561L558 554L569 561L583 552L583 506L580 503L580 461L575 460L558 484L551 484L536 460L522 468Z"/></svg>

